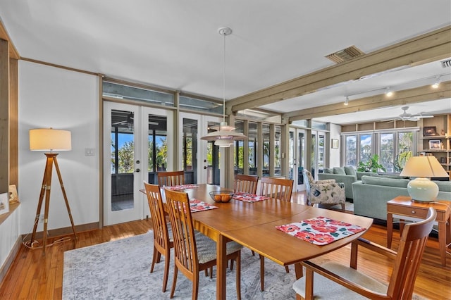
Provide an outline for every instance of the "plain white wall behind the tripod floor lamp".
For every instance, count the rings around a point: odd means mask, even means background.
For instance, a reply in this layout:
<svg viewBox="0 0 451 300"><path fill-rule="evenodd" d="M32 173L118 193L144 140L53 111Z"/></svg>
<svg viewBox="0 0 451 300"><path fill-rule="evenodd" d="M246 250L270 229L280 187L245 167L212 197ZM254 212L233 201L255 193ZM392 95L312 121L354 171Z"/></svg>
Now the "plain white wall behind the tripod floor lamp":
<svg viewBox="0 0 451 300"><path fill-rule="evenodd" d="M72 151L60 151L61 170L75 225L99 221L99 83L98 77L48 65L19 61L19 199L20 229L32 232L44 175L44 151L30 151L28 130L70 130ZM85 156L85 148L94 156ZM42 207L44 214L44 205ZM70 227L58 176L51 182L48 229ZM42 223L38 231L42 231Z"/></svg>

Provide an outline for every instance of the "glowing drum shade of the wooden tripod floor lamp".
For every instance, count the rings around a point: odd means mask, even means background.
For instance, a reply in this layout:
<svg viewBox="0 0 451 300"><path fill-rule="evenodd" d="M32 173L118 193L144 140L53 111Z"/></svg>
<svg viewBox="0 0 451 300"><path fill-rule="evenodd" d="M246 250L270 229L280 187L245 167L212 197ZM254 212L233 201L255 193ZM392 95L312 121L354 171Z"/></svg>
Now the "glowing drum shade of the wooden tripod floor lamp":
<svg viewBox="0 0 451 300"><path fill-rule="evenodd" d="M30 150L67 151L72 149L70 131L52 128L30 130Z"/></svg>

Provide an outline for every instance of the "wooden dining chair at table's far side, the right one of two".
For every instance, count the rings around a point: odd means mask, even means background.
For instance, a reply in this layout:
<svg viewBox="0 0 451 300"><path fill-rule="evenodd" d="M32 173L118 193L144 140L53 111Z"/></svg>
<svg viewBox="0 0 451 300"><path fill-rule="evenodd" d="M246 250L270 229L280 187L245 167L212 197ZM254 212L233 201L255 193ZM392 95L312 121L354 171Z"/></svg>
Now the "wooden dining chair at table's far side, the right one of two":
<svg viewBox="0 0 451 300"><path fill-rule="evenodd" d="M291 201L293 189L293 180L285 178L262 177L260 180L260 195L268 196L271 199L280 201ZM264 256L260 255L260 287L264 291L265 282L265 261ZM285 265L285 271L290 273L288 265Z"/></svg>

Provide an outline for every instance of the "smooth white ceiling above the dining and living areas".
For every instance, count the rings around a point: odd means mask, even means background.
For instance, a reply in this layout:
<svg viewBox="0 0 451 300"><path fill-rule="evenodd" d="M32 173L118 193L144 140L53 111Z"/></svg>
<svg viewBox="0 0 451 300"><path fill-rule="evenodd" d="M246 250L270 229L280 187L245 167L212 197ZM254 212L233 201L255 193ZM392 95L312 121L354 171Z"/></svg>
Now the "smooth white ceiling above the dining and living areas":
<svg viewBox="0 0 451 300"><path fill-rule="evenodd" d="M2 0L0 18L24 58L218 99L218 28L230 27L226 99L233 99L333 65L324 56L347 46L369 53L450 25L451 1ZM285 113L345 95L352 101L383 87L427 85L438 74L451 80L450 70L428 63L262 108ZM451 100L412 104L408 112L451 113ZM394 106L319 120L344 124L400 113Z"/></svg>

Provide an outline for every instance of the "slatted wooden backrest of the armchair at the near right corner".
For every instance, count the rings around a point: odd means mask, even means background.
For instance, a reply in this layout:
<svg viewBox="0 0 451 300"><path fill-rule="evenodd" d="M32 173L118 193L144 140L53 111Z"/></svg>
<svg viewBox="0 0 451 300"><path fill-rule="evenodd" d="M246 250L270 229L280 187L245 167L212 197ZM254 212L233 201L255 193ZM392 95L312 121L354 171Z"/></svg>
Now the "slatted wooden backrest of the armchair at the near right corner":
<svg viewBox="0 0 451 300"><path fill-rule="evenodd" d="M405 225L387 290L392 299L412 299L416 274L435 216L435 209L431 207L426 220Z"/></svg>

